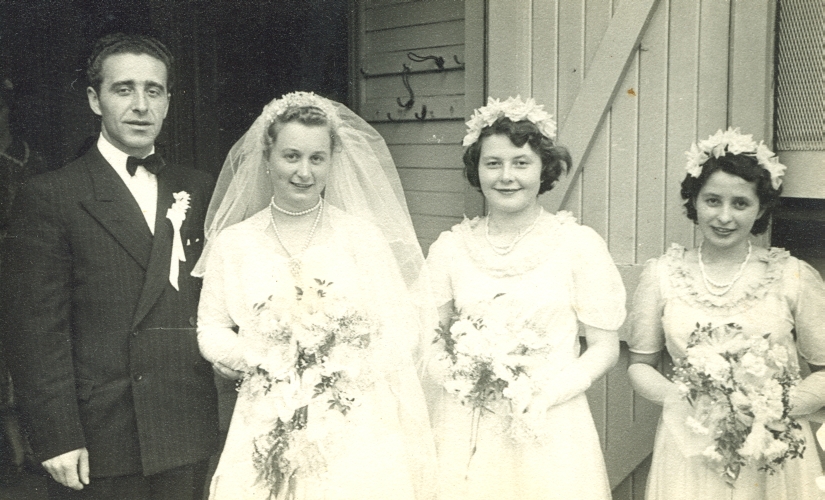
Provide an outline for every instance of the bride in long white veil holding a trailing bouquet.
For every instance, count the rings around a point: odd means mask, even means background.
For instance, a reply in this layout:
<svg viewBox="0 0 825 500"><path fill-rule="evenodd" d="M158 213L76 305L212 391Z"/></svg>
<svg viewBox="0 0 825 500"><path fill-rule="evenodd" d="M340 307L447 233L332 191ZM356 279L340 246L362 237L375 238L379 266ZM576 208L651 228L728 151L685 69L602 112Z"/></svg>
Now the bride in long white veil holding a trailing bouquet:
<svg viewBox="0 0 825 500"><path fill-rule="evenodd" d="M232 148L195 270L201 352L240 377L210 498L434 498L403 200L383 139L314 94L272 101Z"/></svg>

